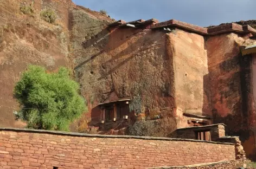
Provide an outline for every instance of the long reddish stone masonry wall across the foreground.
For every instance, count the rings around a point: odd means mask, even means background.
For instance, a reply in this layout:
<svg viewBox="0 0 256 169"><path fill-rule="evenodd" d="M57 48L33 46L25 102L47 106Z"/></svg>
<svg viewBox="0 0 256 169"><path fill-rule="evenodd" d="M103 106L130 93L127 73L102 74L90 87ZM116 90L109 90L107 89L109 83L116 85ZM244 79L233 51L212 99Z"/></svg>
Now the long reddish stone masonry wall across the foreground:
<svg viewBox="0 0 256 169"><path fill-rule="evenodd" d="M149 168L234 159L229 143L0 128L0 168Z"/></svg>

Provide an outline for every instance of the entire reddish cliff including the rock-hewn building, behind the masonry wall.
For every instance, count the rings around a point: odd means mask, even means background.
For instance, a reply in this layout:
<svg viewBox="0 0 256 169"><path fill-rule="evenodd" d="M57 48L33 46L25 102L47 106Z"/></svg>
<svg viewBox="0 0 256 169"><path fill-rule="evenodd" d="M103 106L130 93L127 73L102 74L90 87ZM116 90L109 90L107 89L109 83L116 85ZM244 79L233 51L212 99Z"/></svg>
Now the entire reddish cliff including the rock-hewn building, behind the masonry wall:
<svg viewBox="0 0 256 169"><path fill-rule="evenodd" d="M1 126L22 126L12 92L27 64L66 66L87 99L89 125L103 134L124 134L130 124L143 131L155 124L150 134L161 136L223 123L247 157L256 154L254 49L248 48L256 31L247 22L202 28L175 19L112 21L71 0L33 6L55 11L57 25L42 21L40 12L21 14L20 1L0 5Z"/></svg>

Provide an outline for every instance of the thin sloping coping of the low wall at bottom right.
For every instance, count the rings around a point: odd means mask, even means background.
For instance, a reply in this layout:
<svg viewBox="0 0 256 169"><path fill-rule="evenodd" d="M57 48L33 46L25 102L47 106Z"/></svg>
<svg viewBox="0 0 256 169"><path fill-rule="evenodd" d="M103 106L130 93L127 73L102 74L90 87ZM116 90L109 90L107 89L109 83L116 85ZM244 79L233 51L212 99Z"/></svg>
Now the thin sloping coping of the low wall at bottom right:
<svg viewBox="0 0 256 169"><path fill-rule="evenodd" d="M184 165L184 166L162 166L162 167L153 167L149 169L164 169L164 168L184 168L184 167L203 167L203 166L211 166L211 165L217 165L217 164L226 164L232 161L250 161L249 159L239 159L239 160L228 160L228 161L218 161L213 163L203 163L203 164L194 164L194 165Z"/></svg>

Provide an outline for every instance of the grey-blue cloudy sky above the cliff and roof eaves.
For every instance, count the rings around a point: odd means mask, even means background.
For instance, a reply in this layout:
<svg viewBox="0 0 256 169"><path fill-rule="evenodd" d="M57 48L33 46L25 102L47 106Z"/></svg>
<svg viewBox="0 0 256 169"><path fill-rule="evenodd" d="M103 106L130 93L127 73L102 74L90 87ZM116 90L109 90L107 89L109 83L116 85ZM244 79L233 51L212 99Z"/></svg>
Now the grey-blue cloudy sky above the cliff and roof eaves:
<svg viewBox="0 0 256 169"><path fill-rule="evenodd" d="M73 0L91 10L106 10L126 22L156 18L196 24L201 27L256 19L255 0Z"/></svg>

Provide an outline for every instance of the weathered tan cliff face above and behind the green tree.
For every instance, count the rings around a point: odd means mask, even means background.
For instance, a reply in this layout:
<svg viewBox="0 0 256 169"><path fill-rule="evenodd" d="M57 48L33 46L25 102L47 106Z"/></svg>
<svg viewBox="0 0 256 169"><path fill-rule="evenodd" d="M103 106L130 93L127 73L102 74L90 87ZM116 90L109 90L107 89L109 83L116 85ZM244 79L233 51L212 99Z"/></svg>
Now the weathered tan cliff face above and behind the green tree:
<svg viewBox="0 0 256 169"><path fill-rule="evenodd" d="M110 18L97 12L81 8L71 0L34 1L33 17L20 11L22 5L32 1L0 0L0 126L22 127L15 121L13 112L18 105L13 98L15 83L28 64L39 64L49 71L59 66L73 67L72 46L69 45L69 31L73 27L73 12L84 12L96 19ZM32 4L31 4L32 5ZM55 24L45 22L40 12L53 9L57 16Z"/></svg>

